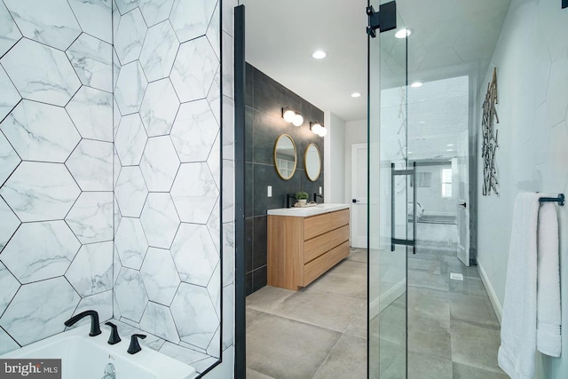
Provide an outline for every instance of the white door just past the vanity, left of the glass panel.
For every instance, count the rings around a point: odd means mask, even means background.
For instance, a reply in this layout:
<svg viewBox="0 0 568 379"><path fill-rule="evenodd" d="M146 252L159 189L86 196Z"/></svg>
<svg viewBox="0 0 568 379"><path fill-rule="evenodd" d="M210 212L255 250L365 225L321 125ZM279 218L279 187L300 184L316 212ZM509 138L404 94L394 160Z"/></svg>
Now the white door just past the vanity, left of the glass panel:
<svg viewBox="0 0 568 379"><path fill-rule="evenodd" d="M367 249L367 144L351 145L351 247Z"/></svg>

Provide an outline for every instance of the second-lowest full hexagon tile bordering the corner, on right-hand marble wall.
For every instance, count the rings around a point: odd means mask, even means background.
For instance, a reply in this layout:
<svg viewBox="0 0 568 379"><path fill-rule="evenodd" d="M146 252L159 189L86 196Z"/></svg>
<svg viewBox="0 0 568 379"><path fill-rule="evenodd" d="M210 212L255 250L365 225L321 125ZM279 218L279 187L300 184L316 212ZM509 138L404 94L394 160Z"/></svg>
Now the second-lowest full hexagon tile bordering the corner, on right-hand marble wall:
<svg viewBox="0 0 568 379"><path fill-rule="evenodd" d="M148 243L138 218L122 217L114 244L122 265L139 270L146 256Z"/></svg>

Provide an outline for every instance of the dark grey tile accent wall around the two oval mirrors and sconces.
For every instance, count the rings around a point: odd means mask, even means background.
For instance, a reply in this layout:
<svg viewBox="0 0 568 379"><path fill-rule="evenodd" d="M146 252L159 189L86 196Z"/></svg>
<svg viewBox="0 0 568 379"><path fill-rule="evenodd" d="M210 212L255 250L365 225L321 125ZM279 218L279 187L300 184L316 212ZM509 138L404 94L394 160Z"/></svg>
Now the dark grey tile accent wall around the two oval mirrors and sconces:
<svg viewBox="0 0 568 379"><path fill-rule="evenodd" d="M286 194L300 190L310 193L323 191L323 164L317 181L305 174L304 152L315 143L323 162L323 138L310 130L310 122L323 122L323 111L296 93L288 90L255 67L247 64L245 141L245 281L247 295L263 288L267 280L267 209L286 207ZM304 125L296 127L282 119L282 107L304 116ZM289 180L279 177L274 167L273 149L280 134L290 135L296 144L296 173ZM272 197L267 197L272 186ZM320 200L319 200L320 201Z"/></svg>

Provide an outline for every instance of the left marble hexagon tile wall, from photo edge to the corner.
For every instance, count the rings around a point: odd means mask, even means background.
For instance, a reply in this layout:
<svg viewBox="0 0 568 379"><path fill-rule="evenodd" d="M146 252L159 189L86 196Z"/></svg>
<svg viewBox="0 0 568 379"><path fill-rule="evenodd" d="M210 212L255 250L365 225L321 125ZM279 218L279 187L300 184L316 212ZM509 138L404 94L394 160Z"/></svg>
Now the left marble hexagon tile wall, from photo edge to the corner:
<svg viewBox="0 0 568 379"><path fill-rule="evenodd" d="M111 14L0 1L0 353L112 317Z"/></svg>

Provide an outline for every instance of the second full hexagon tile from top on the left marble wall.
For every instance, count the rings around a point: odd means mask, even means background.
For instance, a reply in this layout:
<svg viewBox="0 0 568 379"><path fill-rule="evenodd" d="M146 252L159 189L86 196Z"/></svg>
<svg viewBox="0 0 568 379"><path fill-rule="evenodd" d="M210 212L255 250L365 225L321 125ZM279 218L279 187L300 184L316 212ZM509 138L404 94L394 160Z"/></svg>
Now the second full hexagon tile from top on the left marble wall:
<svg viewBox="0 0 568 379"><path fill-rule="evenodd" d="M23 100L0 130L27 161L65 162L81 140L65 109Z"/></svg>

